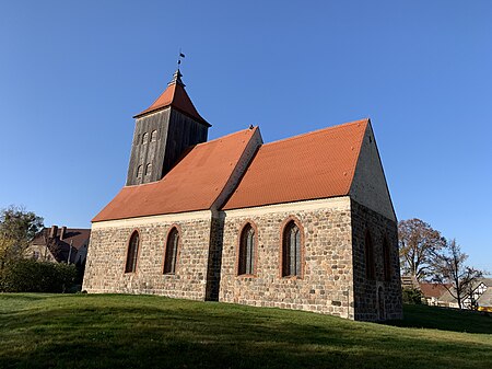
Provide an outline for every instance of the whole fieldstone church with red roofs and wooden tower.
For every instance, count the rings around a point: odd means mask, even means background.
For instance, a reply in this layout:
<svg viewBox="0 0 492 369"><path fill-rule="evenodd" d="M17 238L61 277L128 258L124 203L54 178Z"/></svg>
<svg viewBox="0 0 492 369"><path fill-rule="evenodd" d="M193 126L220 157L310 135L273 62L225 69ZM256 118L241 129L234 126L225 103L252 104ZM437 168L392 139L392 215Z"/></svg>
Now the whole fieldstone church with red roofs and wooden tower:
<svg viewBox="0 0 492 369"><path fill-rule="evenodd" d="M401 319L397 218L370 119L207 140L179 69L136 115L83 289Z"/></svg>

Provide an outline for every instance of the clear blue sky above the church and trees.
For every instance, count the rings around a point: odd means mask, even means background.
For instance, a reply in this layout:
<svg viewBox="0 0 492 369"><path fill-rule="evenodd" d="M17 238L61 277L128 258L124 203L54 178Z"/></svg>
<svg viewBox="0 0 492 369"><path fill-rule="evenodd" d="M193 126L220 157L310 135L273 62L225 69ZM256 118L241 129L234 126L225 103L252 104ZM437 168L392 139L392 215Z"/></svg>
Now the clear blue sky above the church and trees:
<svg viewBox="0 0 492 369"><path fill-rule="evenodd" d="M0 208L90 227L186 55L216 138L371 117L398 218L492 272L492 1L4 1Z"/></svg>

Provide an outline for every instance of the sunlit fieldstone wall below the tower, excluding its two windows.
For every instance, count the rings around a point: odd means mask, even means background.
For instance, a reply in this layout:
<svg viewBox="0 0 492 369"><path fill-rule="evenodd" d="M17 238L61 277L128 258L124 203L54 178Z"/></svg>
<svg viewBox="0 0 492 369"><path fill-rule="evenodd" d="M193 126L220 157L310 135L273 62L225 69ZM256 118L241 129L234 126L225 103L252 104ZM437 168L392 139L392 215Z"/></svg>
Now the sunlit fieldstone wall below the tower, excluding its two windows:
<svg viewBox="0 0 492 369"><path fill-rule="evenodd" d="M83 289L204 300L211 219L211 211L196 211L94 223ZM164 275L172 227L179 231L176 273ZM125 273L128 243L136 230L140 235L137 268Z"/></svg>

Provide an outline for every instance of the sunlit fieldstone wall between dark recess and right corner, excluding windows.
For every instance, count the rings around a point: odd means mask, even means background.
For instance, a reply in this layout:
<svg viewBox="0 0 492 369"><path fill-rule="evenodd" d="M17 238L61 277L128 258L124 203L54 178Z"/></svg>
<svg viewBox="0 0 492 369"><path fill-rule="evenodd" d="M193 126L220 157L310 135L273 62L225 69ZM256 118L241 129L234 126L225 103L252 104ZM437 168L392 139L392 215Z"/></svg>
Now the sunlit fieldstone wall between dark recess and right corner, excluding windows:
<svg viewBox="0 0 492 369"><path fill-rule="evenodd" d="M349 197L227 210L224 217L220 301L354 318ZM281 234L289 219L302 226L301 277L281 276ZM256 272L237 276L246 222L257 233Z"/></svg>

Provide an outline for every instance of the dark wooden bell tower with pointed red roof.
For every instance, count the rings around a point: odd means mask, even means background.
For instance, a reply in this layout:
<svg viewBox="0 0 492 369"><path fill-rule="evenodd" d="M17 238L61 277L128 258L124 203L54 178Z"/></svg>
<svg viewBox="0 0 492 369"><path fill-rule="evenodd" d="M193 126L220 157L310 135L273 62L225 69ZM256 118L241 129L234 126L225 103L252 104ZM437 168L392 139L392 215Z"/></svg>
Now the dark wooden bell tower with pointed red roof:
<svg viewBox="0 0 492 369"><path fill-rule="evenodd" d="M179 68L167 89L136 119L127 186L161 180L194 145L206 142L211 125L185 91Z"/></svg>

